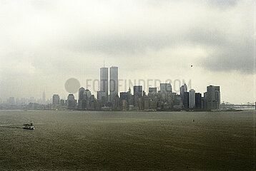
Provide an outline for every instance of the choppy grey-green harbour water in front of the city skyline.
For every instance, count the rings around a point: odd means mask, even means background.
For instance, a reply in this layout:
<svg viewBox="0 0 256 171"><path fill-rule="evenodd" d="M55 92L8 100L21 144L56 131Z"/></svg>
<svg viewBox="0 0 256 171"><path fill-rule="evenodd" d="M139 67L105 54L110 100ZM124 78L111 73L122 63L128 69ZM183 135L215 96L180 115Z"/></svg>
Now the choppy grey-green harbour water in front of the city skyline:
<svg viewBox="0 0 256 171"><path fill-rule="evenodd" d="M0 170L256 170L255 118L0 110Z"/></svg>

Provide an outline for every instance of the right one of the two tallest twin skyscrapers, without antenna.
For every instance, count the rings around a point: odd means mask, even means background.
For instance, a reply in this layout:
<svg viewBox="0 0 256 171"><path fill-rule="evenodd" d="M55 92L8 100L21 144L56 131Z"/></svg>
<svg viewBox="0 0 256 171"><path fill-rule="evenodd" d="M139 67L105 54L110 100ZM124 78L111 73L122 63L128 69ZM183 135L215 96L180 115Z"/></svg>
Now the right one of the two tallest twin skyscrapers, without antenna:
<svg viewBox="0 0 256 171"><path fill-rule="evenodd" d="M118 95L118 67L112 66L109 69L109 74L109 100L113 102L116 95Z"/></svg>

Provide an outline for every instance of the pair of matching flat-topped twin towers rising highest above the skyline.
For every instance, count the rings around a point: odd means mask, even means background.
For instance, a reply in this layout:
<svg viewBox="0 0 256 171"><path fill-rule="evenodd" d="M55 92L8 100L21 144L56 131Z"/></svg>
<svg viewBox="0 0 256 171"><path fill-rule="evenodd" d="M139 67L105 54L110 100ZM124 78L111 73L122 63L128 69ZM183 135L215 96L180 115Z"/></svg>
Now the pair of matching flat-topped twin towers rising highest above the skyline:
<svg viewBox="0 0 256 171"><path fill-rule="evenodd" d="M98 99L106 98L110 102L118 95L118 67L100 68L100 91Z"/></svg>

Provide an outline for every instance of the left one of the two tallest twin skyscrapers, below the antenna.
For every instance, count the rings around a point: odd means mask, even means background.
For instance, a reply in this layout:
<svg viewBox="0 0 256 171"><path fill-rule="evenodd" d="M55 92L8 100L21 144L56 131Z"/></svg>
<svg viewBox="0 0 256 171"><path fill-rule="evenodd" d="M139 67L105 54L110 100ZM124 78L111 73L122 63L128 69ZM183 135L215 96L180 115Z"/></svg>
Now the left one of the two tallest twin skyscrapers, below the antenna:
<svg viewBox="0 0 256 171"><path fill-rule="evenodd" d="M109 95L109 68L100 68L100 91L105 92L106 95Z"/></svg>

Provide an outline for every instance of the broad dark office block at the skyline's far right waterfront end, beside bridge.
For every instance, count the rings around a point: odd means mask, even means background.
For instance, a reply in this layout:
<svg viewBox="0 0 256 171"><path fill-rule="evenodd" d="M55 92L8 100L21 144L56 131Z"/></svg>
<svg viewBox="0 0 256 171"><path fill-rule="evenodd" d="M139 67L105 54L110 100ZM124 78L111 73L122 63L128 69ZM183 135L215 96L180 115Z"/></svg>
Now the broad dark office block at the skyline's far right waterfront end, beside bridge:
<svg viewBox="0 0 256 171"><path fill-rule="evenodd" d="M206 93L207 109L217 110L220 108L220 86L207 86Z"/></svg>

